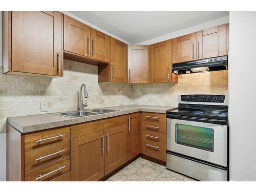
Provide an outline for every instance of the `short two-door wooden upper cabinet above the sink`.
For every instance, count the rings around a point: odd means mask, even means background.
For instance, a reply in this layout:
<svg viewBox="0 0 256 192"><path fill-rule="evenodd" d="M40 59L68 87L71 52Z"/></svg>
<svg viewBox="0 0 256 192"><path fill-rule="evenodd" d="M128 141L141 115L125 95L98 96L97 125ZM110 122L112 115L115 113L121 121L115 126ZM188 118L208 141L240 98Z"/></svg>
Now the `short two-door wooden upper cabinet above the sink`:
<svg viewBox="0 0 256 192"><path fill-rule="evenodd" d="M110 62L110 36L64 15L64 58L92 65Z"/></svg>

